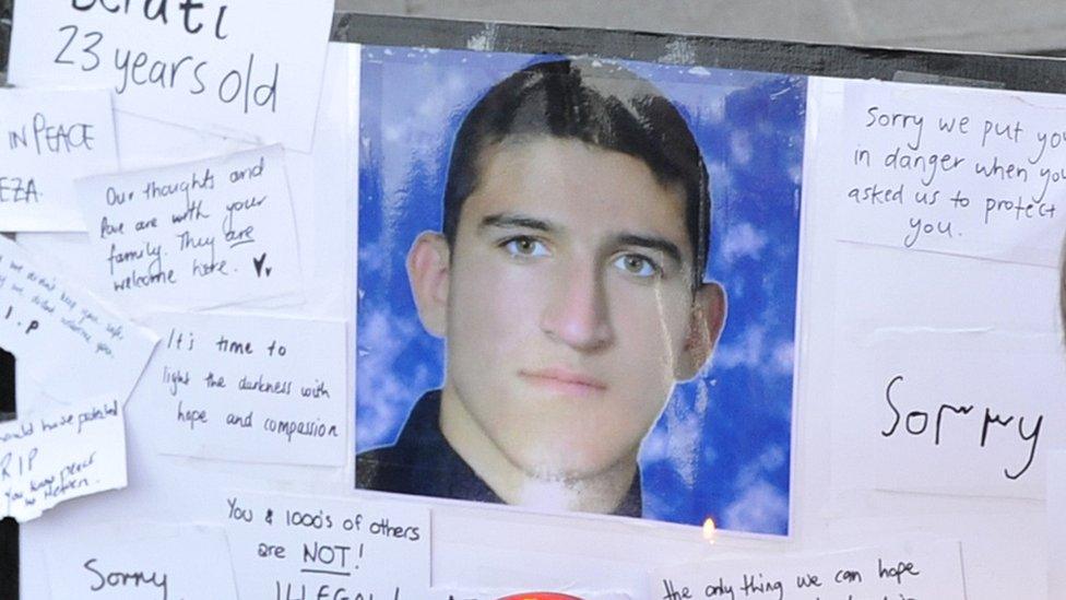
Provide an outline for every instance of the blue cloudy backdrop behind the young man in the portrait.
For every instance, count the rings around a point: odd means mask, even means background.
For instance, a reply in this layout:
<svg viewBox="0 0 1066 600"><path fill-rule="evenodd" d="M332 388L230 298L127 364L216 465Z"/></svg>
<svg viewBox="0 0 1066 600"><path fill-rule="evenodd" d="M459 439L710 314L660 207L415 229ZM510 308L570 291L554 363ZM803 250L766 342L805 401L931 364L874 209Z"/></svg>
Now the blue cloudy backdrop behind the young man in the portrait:
<svg viewBox="0 0 1066 600"><path fill-rule="evenodd" d="M494 83L555 57L367 46L363 50L357 450L391 444L439 387L443 345L418 322L404 271L440 228L454 130ZM800 183L806 80L624 61L688 119L714 201L707 277L730 296L702 376L677 386L641 449L644 515L789 530Z"/></svg>

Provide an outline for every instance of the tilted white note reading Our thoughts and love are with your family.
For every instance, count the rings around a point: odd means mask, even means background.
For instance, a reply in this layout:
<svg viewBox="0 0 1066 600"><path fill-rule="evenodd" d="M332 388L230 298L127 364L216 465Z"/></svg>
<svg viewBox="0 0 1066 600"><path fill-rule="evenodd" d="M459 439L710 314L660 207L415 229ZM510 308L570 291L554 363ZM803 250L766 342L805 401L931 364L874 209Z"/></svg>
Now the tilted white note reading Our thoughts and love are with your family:
<svg viewBox="0 0 1066 600"><path fill-rule="evenodd" d="M104 285L117 296L206 308L299 286L281 146L75 185Z"/></svg>

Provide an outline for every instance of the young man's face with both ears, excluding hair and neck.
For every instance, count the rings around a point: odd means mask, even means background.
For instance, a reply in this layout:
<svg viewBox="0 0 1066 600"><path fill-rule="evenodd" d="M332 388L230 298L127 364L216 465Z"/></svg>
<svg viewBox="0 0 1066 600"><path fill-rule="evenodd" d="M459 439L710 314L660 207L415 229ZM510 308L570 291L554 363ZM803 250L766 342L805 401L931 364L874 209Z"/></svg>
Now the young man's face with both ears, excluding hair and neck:
<svg viewBox="0 0 1066 600"><path fill-rule="evenodd" d="M683 191L548 137L505 141L481 167L453 247L423 236L408 258L423 321L447 338L459 431L541 479L633 463L724 315L716 284L692 291Z"/></svg>

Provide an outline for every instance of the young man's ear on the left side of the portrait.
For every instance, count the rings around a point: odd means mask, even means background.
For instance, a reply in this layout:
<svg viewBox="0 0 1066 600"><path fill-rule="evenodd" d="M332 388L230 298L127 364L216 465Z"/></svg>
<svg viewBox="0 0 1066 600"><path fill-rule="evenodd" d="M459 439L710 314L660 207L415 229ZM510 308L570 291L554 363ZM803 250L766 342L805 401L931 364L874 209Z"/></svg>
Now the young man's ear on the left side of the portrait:
<svg viewBox="0 0 1066 600"><path fill-rule="evenodd" d="M448 326L450 249L439 233L423 232L407 252L407 279L426 331L443 338Z"/></svg>

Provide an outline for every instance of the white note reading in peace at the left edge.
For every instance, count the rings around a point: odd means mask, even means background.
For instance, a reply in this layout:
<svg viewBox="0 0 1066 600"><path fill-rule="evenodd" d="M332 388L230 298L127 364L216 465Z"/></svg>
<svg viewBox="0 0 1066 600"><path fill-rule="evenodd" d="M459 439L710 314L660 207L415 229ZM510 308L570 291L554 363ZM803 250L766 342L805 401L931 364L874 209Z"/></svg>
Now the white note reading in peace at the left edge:
<svg viewBox="0 0 1066 600"><path fill-rule="evenodd" d="M106 91L0 90L0 231L84 231L74 178L118 168Z"/></svg>

